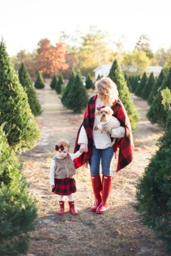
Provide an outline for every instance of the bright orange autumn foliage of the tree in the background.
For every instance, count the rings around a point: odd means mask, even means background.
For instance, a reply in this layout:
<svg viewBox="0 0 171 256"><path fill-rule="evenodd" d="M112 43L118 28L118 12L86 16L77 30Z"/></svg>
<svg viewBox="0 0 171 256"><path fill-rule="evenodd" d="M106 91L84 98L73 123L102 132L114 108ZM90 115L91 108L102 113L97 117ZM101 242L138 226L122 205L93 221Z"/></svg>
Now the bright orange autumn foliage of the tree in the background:
<svg viewBox="0 0 171 256"><path fill-rule="evenodd" d="M66 63L67 46L64 42L59 42L52 46L47 38L41 39L38 43L38 55L35 58L36 68L48 77L65 72L68 69Z"/></svg>

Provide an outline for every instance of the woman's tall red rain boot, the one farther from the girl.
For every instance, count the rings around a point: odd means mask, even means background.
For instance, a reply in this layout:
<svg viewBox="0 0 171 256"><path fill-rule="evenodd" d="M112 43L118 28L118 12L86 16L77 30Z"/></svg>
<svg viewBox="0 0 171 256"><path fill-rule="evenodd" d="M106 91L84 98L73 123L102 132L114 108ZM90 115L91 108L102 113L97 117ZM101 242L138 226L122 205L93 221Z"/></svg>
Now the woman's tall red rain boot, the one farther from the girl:
<svg viewBox="0 0 171 256"><path fill-rule="evenodd" d="M110 175L103 175L102 181L102 201L101 204L96 209L96 214L104 214L106 209L108 209L108 197L111 191L112 185L112 176Z"/></svg>

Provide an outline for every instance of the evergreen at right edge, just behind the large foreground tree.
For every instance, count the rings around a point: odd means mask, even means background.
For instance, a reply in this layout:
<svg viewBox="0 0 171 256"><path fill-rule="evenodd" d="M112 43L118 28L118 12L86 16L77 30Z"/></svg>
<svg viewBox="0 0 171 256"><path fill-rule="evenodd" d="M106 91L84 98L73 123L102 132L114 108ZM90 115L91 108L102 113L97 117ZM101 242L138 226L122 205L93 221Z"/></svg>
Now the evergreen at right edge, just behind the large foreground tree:
<svg viewBox="0 0 171 256"><path fill-rule="evenodd" d="M167 76L164 78L160 90L158 90L157 96L154 98L148 112L147 112L147 118L152 123L159 123L162 126L166 123L166 111L164 110L161 96L161 91L166 89L171 89L171 68L169 69Z"/></svg>

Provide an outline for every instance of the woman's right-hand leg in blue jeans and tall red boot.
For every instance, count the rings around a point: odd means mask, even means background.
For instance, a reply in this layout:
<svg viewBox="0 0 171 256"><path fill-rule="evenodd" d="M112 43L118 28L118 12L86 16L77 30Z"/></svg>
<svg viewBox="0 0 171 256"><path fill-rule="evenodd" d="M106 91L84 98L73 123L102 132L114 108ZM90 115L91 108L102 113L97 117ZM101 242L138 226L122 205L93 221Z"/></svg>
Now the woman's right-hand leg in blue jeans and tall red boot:
<svg viewBox="0 0 171 256"><path fill-rule="evenodd" d="M101 165L102 165L102 200L98 208L96 209L97 214L103 214L108 209L108 197L111 191L112 185L112 172L111 162L114 155L113 147L108 147L101 152Z"/></svg>

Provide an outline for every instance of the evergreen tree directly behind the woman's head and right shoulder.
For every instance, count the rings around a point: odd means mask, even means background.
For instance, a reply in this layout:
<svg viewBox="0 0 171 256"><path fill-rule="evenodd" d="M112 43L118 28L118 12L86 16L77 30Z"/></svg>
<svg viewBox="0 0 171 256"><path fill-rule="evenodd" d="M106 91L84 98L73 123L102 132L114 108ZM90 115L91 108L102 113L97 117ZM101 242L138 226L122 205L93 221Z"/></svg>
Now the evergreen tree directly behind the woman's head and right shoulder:
<svg viewBox="0 0 171 256"><path fill-rule="evenodd" d="M119 92L119 98L121 99L126 109L126 112L129 116L132 129L135 130L139 117L135 110L135 106L131 99L131 95L130 95L129 89L127 88L123 73L119 68L119 65L116 59L114 60L113 65L111 67L109 77L116 83L116 86Z"/></svg>

